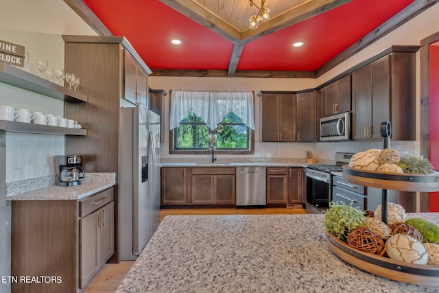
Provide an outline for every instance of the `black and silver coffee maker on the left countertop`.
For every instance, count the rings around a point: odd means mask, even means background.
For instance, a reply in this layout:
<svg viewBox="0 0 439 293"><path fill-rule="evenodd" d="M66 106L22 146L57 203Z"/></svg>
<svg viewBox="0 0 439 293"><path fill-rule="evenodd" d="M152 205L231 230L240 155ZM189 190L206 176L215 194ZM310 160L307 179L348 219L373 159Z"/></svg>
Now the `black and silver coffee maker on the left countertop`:
<svg viewBox="0 0 439 293"><path fill-rule="evenodd" d="M81 166L81 156L56 156L56 185L75 186L80 185L85 177Z"/></svg>

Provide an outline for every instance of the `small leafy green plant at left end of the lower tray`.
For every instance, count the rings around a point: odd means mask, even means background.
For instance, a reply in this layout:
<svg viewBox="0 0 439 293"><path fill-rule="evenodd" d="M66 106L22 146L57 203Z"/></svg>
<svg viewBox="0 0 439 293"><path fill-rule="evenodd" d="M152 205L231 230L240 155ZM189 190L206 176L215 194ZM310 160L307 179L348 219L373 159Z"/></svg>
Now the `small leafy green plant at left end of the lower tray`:
<svg viewBox="0 0 439 293"><path fill-rule="evenodd" d="M364 226L363 211L344 202L329 202L329 209L324 211L324 224L327 231L346 242L353 229Z"/></svg>

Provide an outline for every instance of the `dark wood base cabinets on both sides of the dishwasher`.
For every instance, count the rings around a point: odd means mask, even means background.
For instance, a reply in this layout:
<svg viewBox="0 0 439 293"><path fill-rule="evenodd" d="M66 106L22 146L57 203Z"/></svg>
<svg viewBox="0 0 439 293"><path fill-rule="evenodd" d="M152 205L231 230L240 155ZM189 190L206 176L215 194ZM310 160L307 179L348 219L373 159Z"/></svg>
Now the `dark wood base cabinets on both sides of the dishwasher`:
<svg viewBox="0 0 439 293"><path fill-rule="evenodd" d="M236 203L235 167L162 167L161 207ZM301 204L302 167L267 167L267 205Z"/></svg>

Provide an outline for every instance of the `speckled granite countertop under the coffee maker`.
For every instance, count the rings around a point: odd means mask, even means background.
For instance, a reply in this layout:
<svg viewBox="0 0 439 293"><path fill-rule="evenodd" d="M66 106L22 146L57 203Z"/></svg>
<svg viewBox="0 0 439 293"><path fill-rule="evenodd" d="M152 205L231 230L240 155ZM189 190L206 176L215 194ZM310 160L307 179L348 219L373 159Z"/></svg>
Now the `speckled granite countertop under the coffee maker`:
<svg viewBox="0 0 439 293"><path fill-rule="evenodd" d="M31 183L16 183L14 188L19 189L21 187L22 189L8 193L6 200L80 200L112 187L116 183L115 178L115 173L86 174L86 179L81 185L71 187L49 185L34 190L28 190L32 187L27 186L29 184L34 185L32 181Z"/></svg>

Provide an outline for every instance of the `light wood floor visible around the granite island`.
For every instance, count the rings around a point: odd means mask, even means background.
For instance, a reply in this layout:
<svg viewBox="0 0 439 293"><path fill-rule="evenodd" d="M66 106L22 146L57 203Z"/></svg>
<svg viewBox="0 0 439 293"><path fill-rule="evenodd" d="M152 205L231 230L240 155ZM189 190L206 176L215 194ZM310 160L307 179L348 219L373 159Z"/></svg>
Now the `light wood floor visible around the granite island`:
<svg viewBox="0 0 439 293"><path fill-rule="evenodd" d="M260 214L300 214L305 209L300 208L268 208L268 209L161 209L160 220L167 215L260 215ZM116 292L125 279L134 261L121 263L106 263L96 277L87 285L84 293Z"/></svg>

